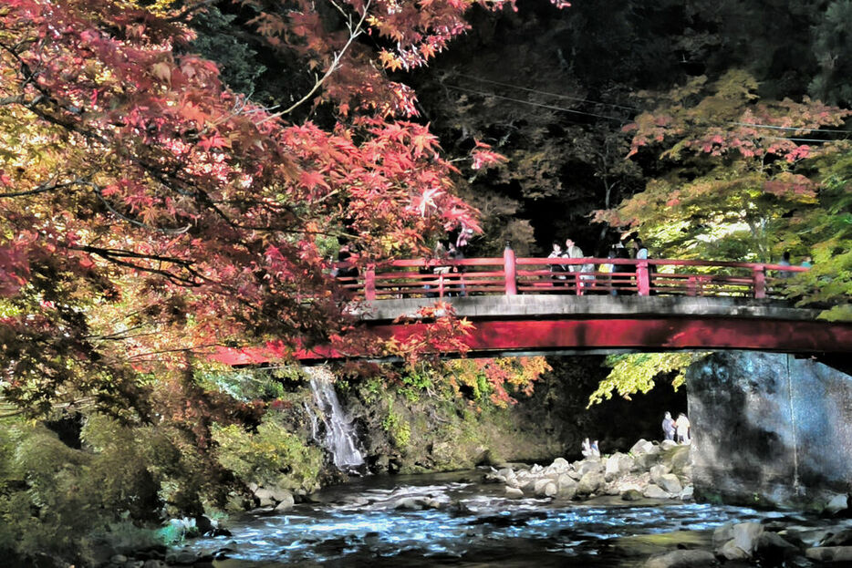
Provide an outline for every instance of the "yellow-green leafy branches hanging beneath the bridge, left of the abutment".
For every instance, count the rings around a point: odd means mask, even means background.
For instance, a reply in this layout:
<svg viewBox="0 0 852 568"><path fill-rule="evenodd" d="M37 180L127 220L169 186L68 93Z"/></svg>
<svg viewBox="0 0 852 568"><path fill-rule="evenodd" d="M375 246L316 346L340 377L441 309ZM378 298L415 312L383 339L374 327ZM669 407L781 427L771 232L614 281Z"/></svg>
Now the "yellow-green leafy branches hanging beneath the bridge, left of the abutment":
<svg viewBox="0 0 852 568"><path fill-rule="evenodd" d="M597 390L588 398L588 407L612 398L613 391L622 398L630 398L635 393L647 393L655 386L660 375L677 372L671 379L671 386L677 390L684 380L684 372L692 363L708 356L708 353L636 353L607 357L607 365L612 367L607 378L600 382ZM587 408L588 408L587 407Z"/></svg>

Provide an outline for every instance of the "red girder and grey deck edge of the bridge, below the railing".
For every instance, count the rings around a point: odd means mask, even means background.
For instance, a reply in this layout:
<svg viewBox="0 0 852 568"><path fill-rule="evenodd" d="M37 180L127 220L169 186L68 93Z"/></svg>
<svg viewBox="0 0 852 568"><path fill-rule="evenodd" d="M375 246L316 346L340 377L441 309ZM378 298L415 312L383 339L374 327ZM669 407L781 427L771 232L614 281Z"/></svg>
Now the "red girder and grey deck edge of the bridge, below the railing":
<svg viewBox="0 0 852 568"><path fill-rule="evenodd" d="M423 334L427 324L401 325L396 318L414 316L433 303L429 298L382 300L358 306L358 316L377 340L404 341ZM816 320L816 310L753 299L524 295L458 297L448 303L475 326L463 338L468 356L743 349L839 361L852 352L852 324ZM364 358L330 346L296 356L305 365ZM229 350L216 358L231 365L269 359L262 348Z"/></svg>

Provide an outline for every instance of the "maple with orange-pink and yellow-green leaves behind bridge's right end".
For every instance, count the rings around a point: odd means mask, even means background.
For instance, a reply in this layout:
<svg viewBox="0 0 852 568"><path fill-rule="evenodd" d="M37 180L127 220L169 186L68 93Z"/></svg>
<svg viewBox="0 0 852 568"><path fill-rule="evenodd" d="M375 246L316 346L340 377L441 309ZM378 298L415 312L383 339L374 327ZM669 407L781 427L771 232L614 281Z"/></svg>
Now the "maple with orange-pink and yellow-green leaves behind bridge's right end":
<svg viewBox="0 0 852 568"><path fill-rule="evenodd" d="M639 230L660 257L771 262L801 244L791 220L821 207L812 162L841 147L827 135L850 112L760 100L756 88L739 70L710 85L696 77L640 114L626 127L629 155L659 155L658 175L597 220Z"/></svg>

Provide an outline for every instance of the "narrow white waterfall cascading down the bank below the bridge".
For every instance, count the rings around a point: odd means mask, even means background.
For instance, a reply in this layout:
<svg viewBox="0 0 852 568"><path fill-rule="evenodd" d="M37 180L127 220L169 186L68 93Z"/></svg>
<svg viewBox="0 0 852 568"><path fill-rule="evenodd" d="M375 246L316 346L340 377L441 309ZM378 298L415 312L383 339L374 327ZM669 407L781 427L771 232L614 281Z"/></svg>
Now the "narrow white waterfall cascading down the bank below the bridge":
<svg viewBox="0 0 852 568"><path fill-rule="evenodd" d="M323 446L331 452L334 464L341 471L355 471L364 465L364 457L358 450L358 439L352 428L352 418L349 418L340 408L338 393L334 389L334 376L325 367L306 367L305 372L310 377L311 390L317 404L319 415L306 405L311 415L311 426L314 439L319 438L319 421L325 426Z"/></svg>

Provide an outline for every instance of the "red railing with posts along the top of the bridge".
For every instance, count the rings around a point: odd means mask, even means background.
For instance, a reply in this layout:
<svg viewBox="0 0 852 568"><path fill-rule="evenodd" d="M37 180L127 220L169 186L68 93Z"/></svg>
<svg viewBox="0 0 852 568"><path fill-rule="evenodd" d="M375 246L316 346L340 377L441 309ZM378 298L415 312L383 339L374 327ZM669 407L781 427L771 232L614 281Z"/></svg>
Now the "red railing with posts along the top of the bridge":
<svg viewBox="0 0 852 568"><path fill-rule="evenodd" d="M340 263L338 267L347 267ZM801 266L679 259L410 259L341 271L338 282L367 300L514 294L638 294L782 297Z"/></svg>

